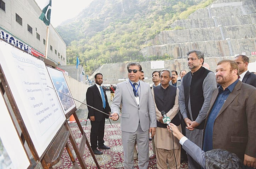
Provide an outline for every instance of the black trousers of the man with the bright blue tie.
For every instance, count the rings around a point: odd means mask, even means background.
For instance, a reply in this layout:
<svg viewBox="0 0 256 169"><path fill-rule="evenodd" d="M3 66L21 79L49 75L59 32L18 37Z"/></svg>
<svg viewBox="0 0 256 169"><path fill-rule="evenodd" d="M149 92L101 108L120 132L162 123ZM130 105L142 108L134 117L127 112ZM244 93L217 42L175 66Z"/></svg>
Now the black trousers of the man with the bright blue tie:
<svg viewBox="0 0 256 169"><path fill-rule="evenodd" d="M105 129L105 118L102 117L100 121L91 121L91 147L92 150L97 149L98 146L104 145L104 129Z"/></svg>

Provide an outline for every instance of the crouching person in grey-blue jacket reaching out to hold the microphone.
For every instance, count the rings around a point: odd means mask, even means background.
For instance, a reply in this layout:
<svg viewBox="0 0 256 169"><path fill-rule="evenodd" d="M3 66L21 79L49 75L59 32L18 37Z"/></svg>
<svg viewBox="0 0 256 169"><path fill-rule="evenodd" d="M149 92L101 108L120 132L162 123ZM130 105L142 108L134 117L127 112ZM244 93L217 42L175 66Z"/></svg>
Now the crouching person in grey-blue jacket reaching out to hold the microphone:
<svg viewBox="0 0 256 169"><path fill-rule="evenodd" d="M170 128L171 130L170 130ZM237 155L223 149L213 149L204 152L199 146L185 137L173 123L167 126L169 132L180 140L182 148L204 169L242 169L242 163Z"/></svg>

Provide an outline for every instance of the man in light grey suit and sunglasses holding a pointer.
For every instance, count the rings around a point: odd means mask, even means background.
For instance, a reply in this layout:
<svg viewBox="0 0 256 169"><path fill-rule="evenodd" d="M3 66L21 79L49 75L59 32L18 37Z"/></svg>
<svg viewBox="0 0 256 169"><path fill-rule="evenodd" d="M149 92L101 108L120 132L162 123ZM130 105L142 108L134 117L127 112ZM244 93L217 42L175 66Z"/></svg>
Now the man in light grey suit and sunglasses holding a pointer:
<svg viewBox="0 0 256 169"><path fill-rule="evenodd" d="M122 104L121 127L124 168L133 169L133 149L135 139L138 144L139 169L149 165L149 133L156 132L156 110L150 85L139 81L141 66L132 62L127 65L129 80L117 84L116 95L111 105L111 119L119 118Z"/></svg>

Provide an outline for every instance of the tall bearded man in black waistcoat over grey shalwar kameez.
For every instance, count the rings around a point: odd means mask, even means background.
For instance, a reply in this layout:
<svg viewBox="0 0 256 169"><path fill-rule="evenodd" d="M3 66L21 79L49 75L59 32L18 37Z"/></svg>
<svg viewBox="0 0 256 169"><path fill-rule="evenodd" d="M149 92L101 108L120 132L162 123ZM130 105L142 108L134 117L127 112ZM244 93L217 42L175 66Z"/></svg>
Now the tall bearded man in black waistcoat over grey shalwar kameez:
<svg viewBox="0 0 256 169"><path fill-rule="evenodd" d="M186 123L186 137L202 149L203 129L211 95L217 88L215 74L202 67L204 54L199 50L187 53L191 70L182 79L179 107ZM200 169L200 165L188 155L188 168Z"/></svg>

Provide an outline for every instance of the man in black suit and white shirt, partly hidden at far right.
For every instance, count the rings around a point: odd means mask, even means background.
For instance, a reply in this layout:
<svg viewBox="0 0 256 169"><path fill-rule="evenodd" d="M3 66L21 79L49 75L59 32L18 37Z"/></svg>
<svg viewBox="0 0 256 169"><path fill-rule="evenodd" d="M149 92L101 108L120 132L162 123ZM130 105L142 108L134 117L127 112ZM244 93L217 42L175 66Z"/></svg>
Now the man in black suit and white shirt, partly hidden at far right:
<svg viewBox="0 0 256 169"><path fill-rule="evenodd" d="M243 83L256 87L256 75L248 70L249 57L245 55L238 55L235 57L235 62L237 62L239 68L238 79Z"/></svg>

